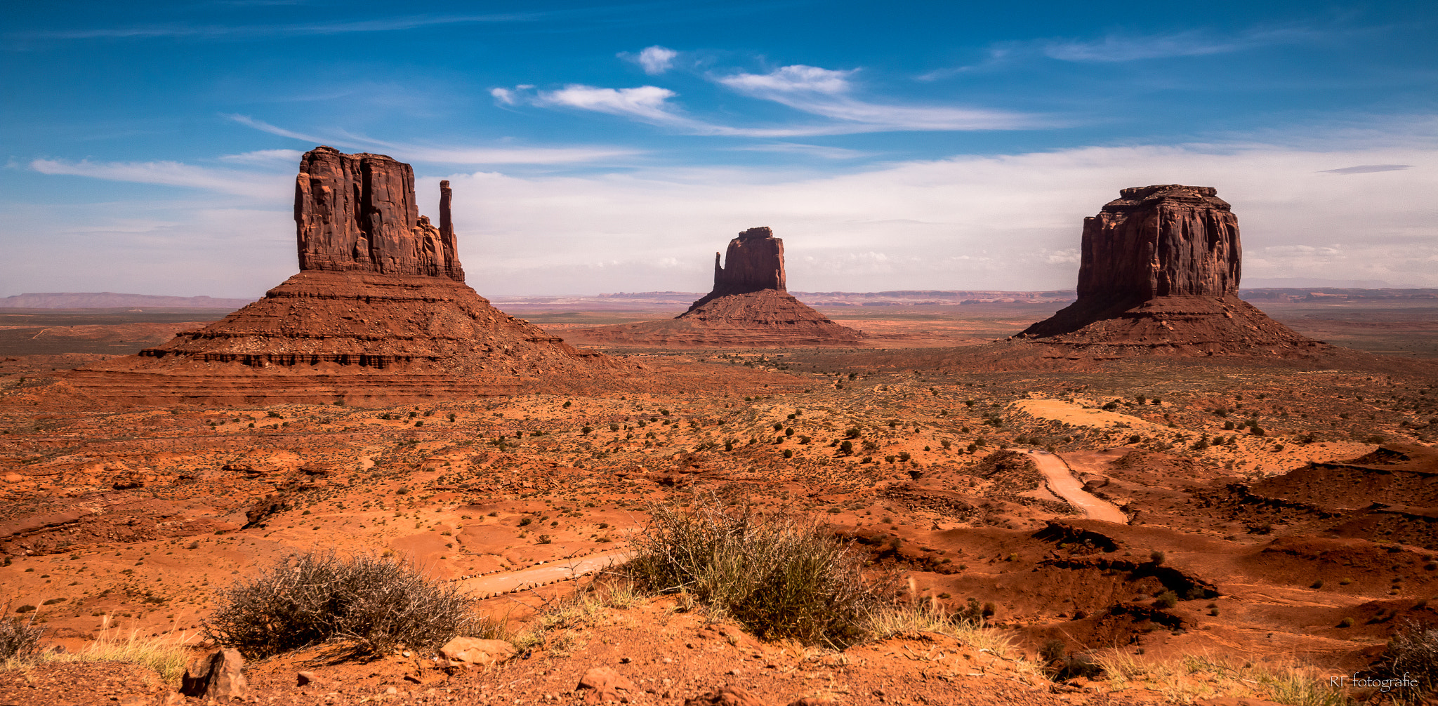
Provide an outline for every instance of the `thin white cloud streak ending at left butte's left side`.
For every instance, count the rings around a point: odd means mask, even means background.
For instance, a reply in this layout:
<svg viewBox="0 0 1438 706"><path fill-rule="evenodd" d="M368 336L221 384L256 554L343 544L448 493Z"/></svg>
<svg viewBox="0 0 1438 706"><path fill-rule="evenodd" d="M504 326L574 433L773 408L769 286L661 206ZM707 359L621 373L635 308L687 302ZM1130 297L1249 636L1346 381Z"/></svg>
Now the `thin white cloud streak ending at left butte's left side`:
<svg viewBox="0 0 1438 706"><path fill-rule="evenodd" d="M104 178L111 181L134 181L139 184L164 184L171 187L201 188L257 198L273 198L289 190L292 178L282 173L255 173L197 167L174 161L154 162L78 162L63 160L33 160L30 168L40 174L69 174L76 177Z"/></svg>

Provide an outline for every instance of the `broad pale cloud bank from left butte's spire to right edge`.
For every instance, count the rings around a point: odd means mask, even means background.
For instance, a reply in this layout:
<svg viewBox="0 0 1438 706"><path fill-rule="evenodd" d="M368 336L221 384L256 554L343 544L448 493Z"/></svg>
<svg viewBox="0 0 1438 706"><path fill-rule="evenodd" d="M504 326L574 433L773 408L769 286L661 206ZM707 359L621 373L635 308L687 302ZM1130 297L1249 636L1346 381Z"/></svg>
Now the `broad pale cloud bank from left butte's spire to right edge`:
<svg viewBox="0 0 1438 706"><path fill-rule="evenodd" d="M1319 173L1396 158L1414 168ZM713 252L754 226L785 240L795 290L1068 289L1083 219L1123 187L1169 183L1214 185L1234 204L1245 278L1438 286L1432 147L1091 147L844 175L756 167L446 178L482 293L706 290ZM590 263L601 257L618 265L600 272Z"/></svg>

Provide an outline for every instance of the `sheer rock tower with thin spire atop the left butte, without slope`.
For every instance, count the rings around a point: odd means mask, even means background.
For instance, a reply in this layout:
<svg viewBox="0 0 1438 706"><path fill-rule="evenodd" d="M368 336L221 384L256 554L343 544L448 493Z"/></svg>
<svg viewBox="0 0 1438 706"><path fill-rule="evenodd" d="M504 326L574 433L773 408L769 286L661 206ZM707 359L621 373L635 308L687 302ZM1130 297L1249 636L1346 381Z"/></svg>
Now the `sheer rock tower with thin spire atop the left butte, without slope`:
<svg viewBox="0 0 1438 706"><path fill-rule="evenodd" d="M464 282L454 249L449 183L440 227L420 216L414 170L383 154L316 147L299 161L295 239L301 272L372 272Z"/></svg>

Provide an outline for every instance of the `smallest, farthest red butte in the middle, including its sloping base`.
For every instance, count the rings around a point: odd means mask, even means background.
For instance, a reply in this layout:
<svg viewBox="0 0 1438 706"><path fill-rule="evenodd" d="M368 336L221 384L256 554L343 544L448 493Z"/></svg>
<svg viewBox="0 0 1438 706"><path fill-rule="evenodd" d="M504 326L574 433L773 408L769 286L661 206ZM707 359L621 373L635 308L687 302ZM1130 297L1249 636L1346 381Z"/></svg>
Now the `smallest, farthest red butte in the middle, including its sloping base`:
<svg viewBox="0 0 1438 706"><path fill-rule="evenodd" d="M715 288L669 321L574 329L569 339L657 347L857 347L863 334L834 324L788 293L784 240L768 227L739 233L720 260Z"/></svg>

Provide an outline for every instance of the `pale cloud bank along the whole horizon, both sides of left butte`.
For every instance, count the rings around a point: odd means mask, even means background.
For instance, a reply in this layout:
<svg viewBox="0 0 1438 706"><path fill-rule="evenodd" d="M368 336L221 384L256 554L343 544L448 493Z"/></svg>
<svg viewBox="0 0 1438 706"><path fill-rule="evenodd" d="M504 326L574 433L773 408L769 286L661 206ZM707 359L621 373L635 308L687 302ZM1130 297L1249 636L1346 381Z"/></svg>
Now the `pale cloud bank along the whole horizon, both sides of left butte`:
<svg viewBox="0 0 1438 706"><path fill-rule="evenodd" d="M754 226L785 240L795 290L1068 289L1083 219L1119 188L1169 183L1217 187L1234 206L1245 280L1438 286L1438 145L1425 134L1382 147L965 155L838 175L650 167L519 177L421 167L417 185L420 203L433 204L439 180L452 181L460 256L483 295L707 290L715 250ZM1412 167L1324 173L1345 164ZM14 257L0 259L0 282L12 290L0 295L240 295L293 272L289 170L236 181L239 170L175 162L49 160L35 168L213 191L78 204L55 217L16 207L4 234Z"/></svg>

